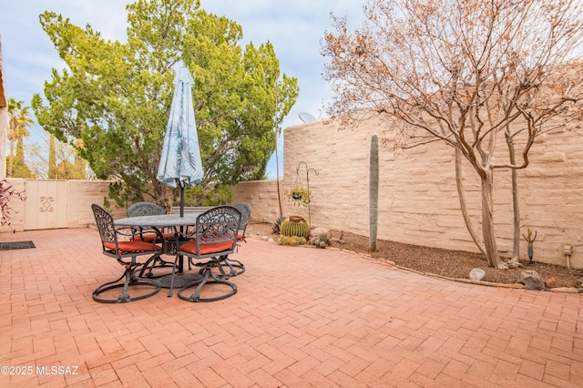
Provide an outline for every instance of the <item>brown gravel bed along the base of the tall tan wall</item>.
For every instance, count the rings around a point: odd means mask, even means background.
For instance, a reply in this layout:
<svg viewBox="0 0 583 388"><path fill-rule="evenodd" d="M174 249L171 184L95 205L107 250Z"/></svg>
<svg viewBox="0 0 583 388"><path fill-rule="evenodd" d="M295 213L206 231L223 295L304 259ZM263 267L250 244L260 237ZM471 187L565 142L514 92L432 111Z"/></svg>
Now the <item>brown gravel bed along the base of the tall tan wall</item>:
<svg viewBox="0 0 583 388"><path fill-rule="evenodd" d="M269 223L250 223L247 227L247 233L252 238L267 236L277 240L279 237L273 233ZM369 253L367 237L343 232L343 242L340 243L337 241L340 236L341 231L332 230L332 247ZM517 269L497 270L488 267L486 259L480 254L460 250L427 248L385 240L377 241L377 251L373 252L371 256L378 260L393 261L396 265L409 270L433 273L454 279L468 279L472 269L481 268L486 271L486 277L483 281L493 283L517 283L522 271L537 271L550 288L578 287L580 286L579 280L583 277L581 270L568 270L567 267L536 261L533 265L527 265L527 262L521 261L522 267Z"/></svg>

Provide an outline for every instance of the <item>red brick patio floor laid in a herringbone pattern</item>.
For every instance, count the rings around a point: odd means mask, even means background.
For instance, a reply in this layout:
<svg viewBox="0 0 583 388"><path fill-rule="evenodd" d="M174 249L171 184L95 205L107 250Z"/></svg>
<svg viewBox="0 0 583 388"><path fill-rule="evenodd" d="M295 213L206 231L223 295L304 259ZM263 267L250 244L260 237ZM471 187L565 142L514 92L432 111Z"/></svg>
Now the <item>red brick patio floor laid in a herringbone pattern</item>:
<svg viewBox="0 0 583 388"><path fill-rule="evenodd" d="M107 305L91 292L122 267L97 231L0 234L16 240L36 248L0 251L0 386L583 386L581 294L249 240L229 299Z"/></svg>

